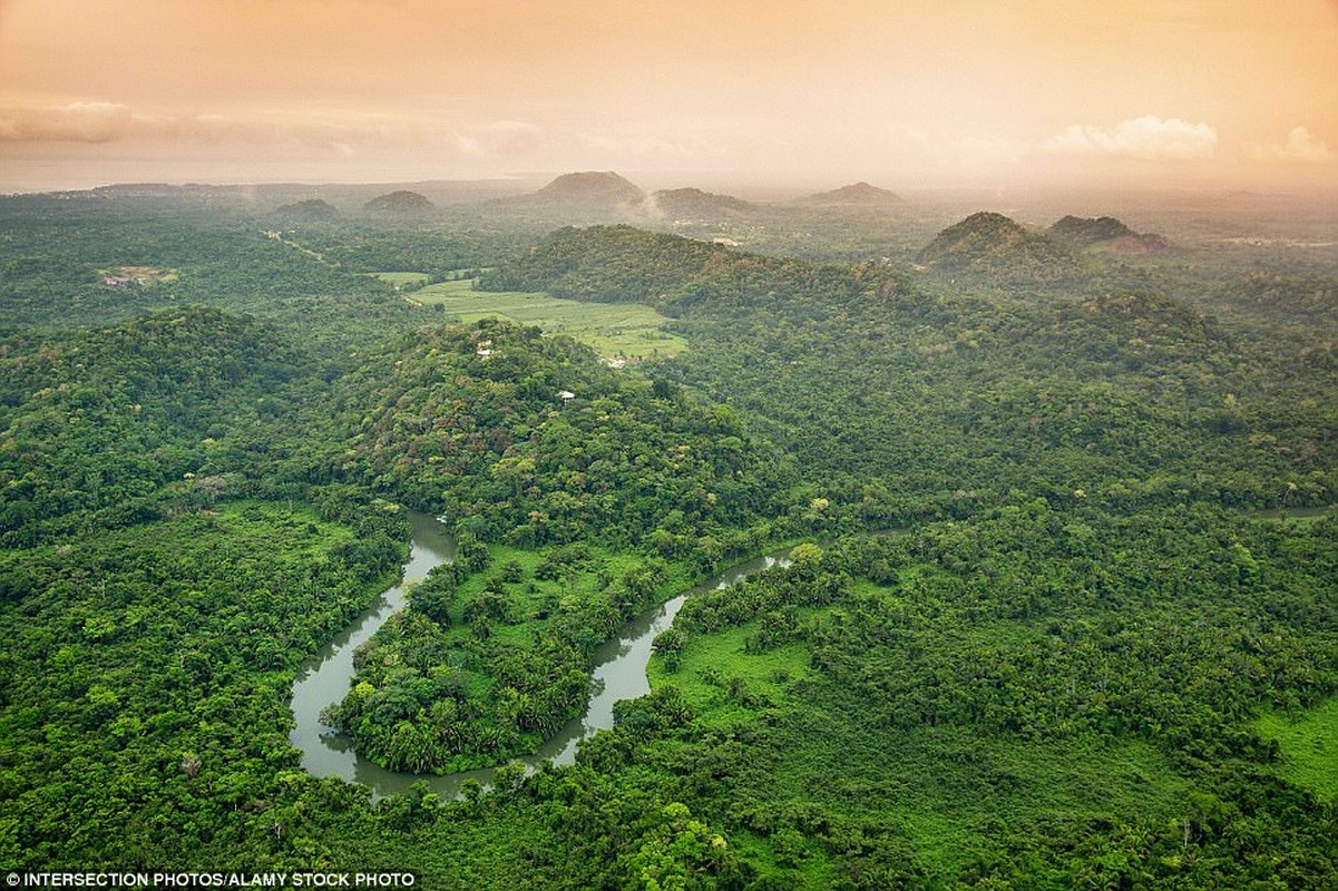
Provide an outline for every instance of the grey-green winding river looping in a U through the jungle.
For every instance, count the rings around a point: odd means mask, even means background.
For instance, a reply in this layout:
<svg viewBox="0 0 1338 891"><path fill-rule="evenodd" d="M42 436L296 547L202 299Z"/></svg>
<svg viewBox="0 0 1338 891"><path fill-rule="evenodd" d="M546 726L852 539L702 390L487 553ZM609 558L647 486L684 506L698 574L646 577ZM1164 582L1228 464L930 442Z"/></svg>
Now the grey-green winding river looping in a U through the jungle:
<svg viewBox="0 0 1338 891"><path fill-rule="evenodd" d="M361 783L372 789L373 800L403 792L413 783L424 780L443 799L455 797L466 780L478 780L484 785L492 780L492 768L446 776L387 771L361 757L352 749L347 737L321 722L321 712L348 694L353 678L353 650L404 606L404 586L420 581L434 566L455 559L455 544L442 523L425 514L411 512L409 527L409 561L404 566L403 581L381 594L365 613L304 665L293 684L292 709L296 728L288 738L301 751L302 768L313 776L337 776L351 783ZM650 692L650 684L646 681L650 644L660 631L673 623L684 601L698 591L728 587L752 573L785 562L787 557L788 551L779 551L739 563L628 622L617 638L595 650L594 694L585 714L546 740L538 752L519 760L530 769L543 761L558 765L573 764L581 740L613 726L614 702Z"/></svg>

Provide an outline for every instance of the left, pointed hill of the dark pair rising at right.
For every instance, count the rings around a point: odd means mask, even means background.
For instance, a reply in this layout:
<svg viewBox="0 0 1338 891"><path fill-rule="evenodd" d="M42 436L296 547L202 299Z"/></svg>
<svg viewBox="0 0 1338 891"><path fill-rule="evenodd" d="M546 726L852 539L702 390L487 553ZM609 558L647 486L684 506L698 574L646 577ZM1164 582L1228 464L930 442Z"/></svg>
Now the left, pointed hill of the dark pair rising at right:
<svg viewBox="0 0 1338 891"><path fill-rule="evenodd" d="M919 262L931 269L975 273L1013 284L1065 278L1081 265L1062 242L989 211L971 214L941 231L919 253Z"/></svg>

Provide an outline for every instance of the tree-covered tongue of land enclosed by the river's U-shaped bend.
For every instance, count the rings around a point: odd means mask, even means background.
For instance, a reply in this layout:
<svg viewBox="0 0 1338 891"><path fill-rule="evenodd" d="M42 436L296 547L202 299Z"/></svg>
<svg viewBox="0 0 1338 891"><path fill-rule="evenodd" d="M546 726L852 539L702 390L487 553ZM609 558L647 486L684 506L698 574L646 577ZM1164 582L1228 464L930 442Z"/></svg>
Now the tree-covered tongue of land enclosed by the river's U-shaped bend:
<svg viewBox="0 0 1338 891"><path fill-rule="evenodd" d="M586 544L480 551L413 589L332 713L360 751L413 773L492 767L579 717L594 649L685 577ZM468 579L467 583L462 583Z"/></svg>

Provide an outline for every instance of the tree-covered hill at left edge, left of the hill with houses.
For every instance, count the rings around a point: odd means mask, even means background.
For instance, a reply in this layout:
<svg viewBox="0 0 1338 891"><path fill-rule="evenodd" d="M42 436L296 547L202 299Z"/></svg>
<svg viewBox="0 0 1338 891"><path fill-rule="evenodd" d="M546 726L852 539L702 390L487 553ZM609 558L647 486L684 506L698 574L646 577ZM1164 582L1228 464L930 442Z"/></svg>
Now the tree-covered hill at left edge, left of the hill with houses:
<svg viewBox="0 0 1338 891"><path fill-rule="evenodd" d="M312 364L256 320L198 306L16 346L0 359L7 544L157 516L161 487L186 476L222 487Z"/></svg>

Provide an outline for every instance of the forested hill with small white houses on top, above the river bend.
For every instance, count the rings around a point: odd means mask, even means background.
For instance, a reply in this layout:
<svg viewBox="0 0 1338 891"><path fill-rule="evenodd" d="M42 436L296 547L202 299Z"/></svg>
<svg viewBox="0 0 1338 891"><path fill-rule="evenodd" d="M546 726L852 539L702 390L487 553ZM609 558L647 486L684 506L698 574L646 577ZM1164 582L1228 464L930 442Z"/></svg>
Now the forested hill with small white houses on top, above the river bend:
<svg viewBox="0 0 1338 891"><path fill-rule="evenodd" d="M413 332L336 400L340 474L486 540L625 547L664 526L684 553L712 551L776 512L785 474L729 408L492 320Z"/></svg>

